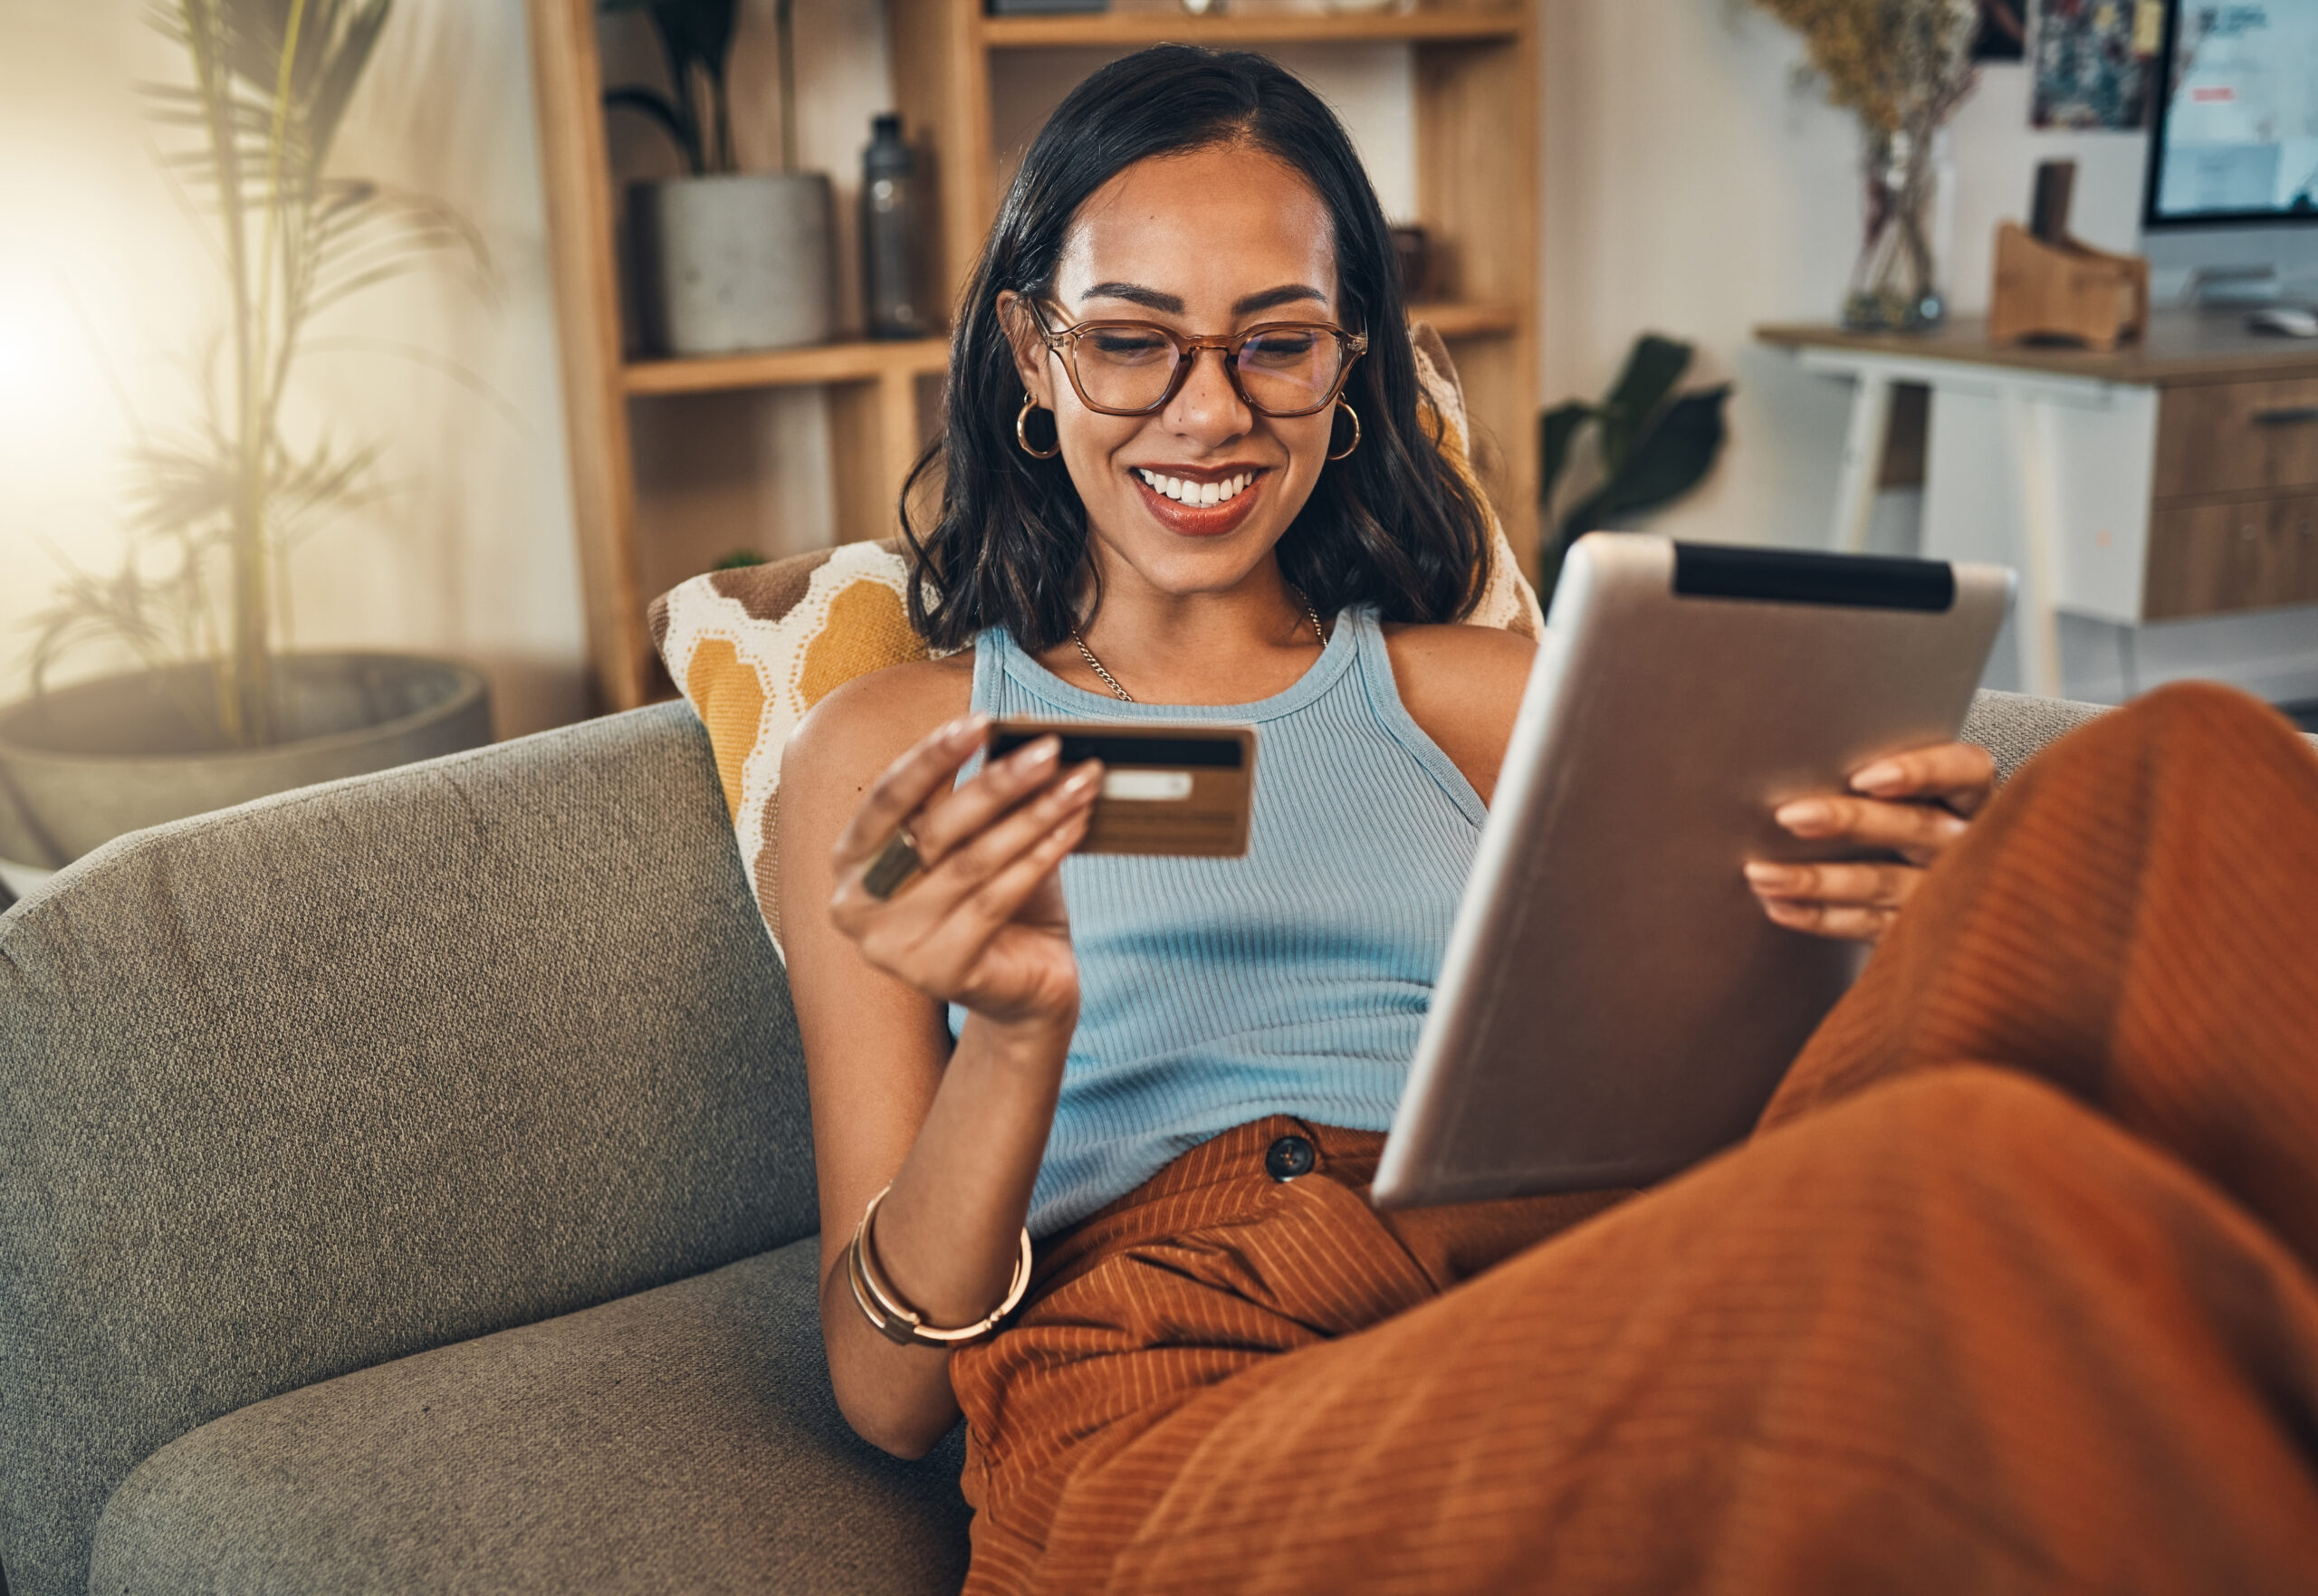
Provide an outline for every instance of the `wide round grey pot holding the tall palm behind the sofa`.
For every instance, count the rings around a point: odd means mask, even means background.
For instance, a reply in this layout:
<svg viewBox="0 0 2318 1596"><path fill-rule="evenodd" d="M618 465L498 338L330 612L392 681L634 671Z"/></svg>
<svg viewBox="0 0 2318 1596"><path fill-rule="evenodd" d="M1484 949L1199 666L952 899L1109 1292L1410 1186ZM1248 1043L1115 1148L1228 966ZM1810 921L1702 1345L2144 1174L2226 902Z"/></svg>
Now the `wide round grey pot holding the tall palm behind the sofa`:
<svg viewBox="0 0 2318 1596"><path fill-rule="evenodd" d="M274 669L285 739L271 748L202 746L172 693L204 690L199 665L0 709L0 859L60 869L123 832L491 741L491 693L468 665L285 653Z"/></svg>

